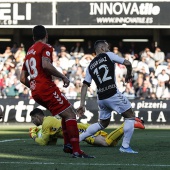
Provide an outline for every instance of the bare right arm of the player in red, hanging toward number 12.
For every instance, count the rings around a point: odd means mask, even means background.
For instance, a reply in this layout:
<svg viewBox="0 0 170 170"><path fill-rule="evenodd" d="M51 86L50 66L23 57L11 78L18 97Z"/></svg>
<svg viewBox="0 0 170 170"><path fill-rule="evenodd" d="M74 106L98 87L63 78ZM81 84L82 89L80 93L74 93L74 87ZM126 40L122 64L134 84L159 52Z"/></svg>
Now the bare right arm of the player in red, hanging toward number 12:
<svg viewBox="0 0 170 170"><path fill-rule="evenodd" d="M60 73L59 71L57 71L57 69L51 64L50 59L47 57L42 57L42 67L51 75L55 76L55 77L59 77L63 80L64 82L64 87L68 87L70 84L69 79L64 76L62 73Z"/></svg>

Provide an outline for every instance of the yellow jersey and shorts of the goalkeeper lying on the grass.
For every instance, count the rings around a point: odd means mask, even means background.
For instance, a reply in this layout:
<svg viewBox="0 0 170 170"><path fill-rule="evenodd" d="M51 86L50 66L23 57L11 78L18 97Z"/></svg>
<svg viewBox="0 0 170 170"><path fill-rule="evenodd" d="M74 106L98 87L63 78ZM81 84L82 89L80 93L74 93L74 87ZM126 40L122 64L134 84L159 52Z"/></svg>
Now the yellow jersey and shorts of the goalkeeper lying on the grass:
<svg viewBox="0 0 170 170"><path fill-rule="evenodd" d="M86 131L86 129L89 127L89 124L84 123L78 123L77 125L79 134ZM57 138L63 138L61 119L57 119L53 116L44 117L41 133L41 137L37 137L35 139L36 143L38 143L39 145L55 144ZM107 133L104 131L98 131L93 136L86 138L85 141L89 144L93 144L94 137L98 135L106 137Z"/></svg>

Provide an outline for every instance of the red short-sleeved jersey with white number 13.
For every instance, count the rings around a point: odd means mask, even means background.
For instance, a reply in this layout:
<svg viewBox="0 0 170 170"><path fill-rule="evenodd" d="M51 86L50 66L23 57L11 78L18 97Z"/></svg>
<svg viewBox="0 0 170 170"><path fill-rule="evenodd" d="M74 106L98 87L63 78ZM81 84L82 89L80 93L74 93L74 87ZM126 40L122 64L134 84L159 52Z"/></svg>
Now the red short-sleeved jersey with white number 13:
<svg viewBox="0 0 170 170"><path fill-rule="evenodd" d="M30 75L30 89L33 95L56 86L51 75L42 67L42 57L47 57L52 63L52 52L53 48L43 42L36 42L27 52L22 69Z"/></svg>

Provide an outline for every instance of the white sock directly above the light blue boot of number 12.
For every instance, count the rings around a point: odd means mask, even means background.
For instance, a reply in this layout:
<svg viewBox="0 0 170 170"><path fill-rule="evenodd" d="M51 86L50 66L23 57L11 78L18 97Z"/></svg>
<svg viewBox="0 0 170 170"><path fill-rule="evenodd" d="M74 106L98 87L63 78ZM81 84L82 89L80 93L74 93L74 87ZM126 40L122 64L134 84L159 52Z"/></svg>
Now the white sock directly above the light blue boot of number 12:
<svg viewBox="0 0 170 170"><path fill-rule="evenodd" d="M130 119L125 120L125 124L124 124L124 128L123 128L124 137L123 137L123 142L122 142L122 146L124 148L129 147L130 140L131 140L131 137L134 132L134 123L135 123L135 120L130 120Z"/></svg>

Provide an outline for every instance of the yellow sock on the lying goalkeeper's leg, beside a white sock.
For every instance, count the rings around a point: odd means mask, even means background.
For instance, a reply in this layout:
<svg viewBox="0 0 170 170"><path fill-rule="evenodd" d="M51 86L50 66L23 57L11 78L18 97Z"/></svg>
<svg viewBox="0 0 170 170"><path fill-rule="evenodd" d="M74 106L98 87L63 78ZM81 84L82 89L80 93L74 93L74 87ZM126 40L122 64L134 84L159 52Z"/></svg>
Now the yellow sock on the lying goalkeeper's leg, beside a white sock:
<svg viewBox="0 0 170 170"><path fill-rule="evenodd" d="M109 146L117 145L118 141L121 139L121 137L124 134L123 126L124 126L124 123L119 128L117 128L116 130L108 134L105 140Z"/></svg>

